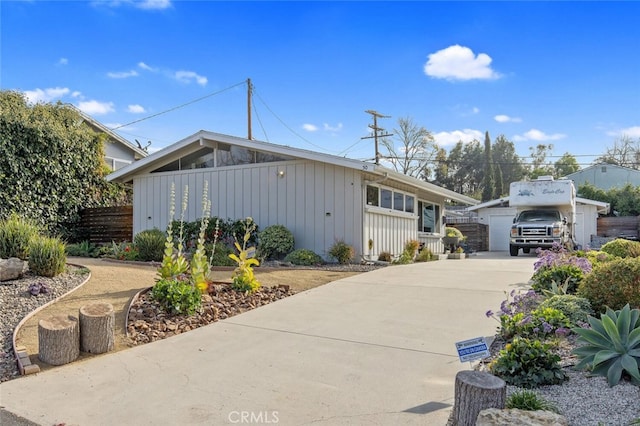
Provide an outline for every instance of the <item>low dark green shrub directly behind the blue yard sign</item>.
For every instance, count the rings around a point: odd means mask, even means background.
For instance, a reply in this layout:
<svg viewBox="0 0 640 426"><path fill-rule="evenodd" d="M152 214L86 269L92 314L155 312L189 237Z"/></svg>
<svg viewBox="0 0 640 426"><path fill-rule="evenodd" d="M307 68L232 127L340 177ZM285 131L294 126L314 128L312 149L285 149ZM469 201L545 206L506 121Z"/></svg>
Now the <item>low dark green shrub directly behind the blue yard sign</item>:
<svg viewBox="0 0 640 426"><path fill-rule="evenodd" d="M516 337L489 364L489 370L513 386L535 388L555 385L566 378L558 364L560 359L551 352L549 344Z"/></svg>

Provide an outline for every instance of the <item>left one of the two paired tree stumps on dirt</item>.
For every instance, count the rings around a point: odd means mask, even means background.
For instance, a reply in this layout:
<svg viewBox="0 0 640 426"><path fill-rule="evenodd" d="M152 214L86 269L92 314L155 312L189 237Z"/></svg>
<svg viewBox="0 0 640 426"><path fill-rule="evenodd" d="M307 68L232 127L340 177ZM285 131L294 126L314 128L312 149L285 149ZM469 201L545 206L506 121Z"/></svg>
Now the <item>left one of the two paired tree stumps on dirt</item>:
<svg viewBox="0 0 640 426"><path fill-rule="evenodd" d="M72 315L55 315L38 322L38 358L51 365L68 364L80 355L80 327Z"/></svg>

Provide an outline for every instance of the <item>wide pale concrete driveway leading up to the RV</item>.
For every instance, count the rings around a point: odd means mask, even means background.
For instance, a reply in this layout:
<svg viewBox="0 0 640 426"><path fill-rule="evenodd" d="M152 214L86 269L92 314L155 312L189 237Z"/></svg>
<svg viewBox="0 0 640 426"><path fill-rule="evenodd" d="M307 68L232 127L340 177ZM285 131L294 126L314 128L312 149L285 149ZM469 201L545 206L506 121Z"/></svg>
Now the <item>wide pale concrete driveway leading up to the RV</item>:
<svg viewBox="0 0 640 426"><path fill-rule="evenodd" d="M525 285L534 255L393 266L186 334L0 385L14 424L444 425L455 342ZM24 423L15 416L28 419ZM4 425L5 423L3 423ZM9 423L10 424L10 423Z"/></svg>

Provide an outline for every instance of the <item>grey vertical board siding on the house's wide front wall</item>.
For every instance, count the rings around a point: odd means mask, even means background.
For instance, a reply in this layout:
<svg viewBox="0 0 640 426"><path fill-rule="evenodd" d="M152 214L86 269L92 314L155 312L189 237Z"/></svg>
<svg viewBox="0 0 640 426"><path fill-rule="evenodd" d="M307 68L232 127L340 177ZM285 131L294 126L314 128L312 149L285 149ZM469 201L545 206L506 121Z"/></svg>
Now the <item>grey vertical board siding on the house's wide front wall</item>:
<svg viewBox="0 0 640 426"><path fill-rule="evenodd" d="M281 175L281 172L283 174ZM152 173L135 177L134 234L166 229L171 184L175 185L175 218L182 210L188 186L185 221L202 217L204 182L209 185L211 215L252 217L260 229L284 225L296 248L313 250L327 258L338 240L362 253L362 182L358 170L313 161L259 163Z"/></svg>

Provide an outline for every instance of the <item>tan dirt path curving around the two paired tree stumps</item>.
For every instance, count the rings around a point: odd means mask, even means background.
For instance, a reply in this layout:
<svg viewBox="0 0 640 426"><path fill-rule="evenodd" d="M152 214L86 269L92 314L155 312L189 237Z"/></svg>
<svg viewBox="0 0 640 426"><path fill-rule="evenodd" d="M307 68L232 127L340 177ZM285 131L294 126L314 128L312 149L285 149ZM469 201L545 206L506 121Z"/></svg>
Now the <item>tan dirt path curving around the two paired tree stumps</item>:
<svg viewBox="0 0 640 426"><path fill-rule="evenodd" d="M38 321L52 315L74 315L88 303L111 303L115 311L115 351L130 347L126 338L125 321L127 308L133 296L141 290L151 287L156 278L157 267L134 262L114 262L103 259L69 258L69 263L82 265L91 271L89 282L73 293L63 297L39 311L25 322L16 337L16 345L27 348L31 362L41 370L52 368L38 359ZM296 292L308 290L331 281L346 278L360 272L326 271L319 269L255 268L256 278L263 286L280 284L291 286ZM212 279L230 281L232 268L215 270ZM110 353L112 353L110 352ZM81 352L80 360L92 355Z"/></svg>

